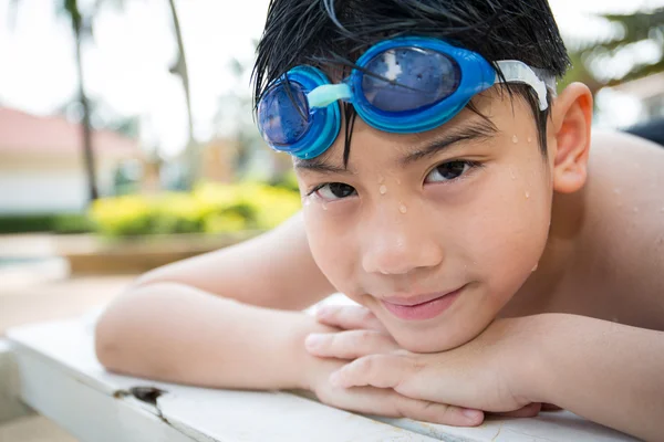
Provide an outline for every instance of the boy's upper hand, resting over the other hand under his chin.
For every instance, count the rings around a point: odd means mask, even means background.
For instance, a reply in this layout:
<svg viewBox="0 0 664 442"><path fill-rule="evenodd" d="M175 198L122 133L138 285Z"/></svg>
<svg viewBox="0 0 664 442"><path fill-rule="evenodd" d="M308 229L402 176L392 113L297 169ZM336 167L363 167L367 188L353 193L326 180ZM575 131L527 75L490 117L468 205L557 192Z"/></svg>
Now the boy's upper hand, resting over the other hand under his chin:
<svg viewBox="0 0 664 442"><path fill-rule="evenodd" d="M319 322L346 332L314 335L318 339L310 336L307 349L319 357L355 359L332 375L332 383L339 387L393 389L403 397L439 404L532 417L541 404L521 393L522 376L518 375L525 371L528 347L523 343L530 341L526 325L531 319L497 320L461 347L419 355L400 349L366 308L326 306Z"/></svg>

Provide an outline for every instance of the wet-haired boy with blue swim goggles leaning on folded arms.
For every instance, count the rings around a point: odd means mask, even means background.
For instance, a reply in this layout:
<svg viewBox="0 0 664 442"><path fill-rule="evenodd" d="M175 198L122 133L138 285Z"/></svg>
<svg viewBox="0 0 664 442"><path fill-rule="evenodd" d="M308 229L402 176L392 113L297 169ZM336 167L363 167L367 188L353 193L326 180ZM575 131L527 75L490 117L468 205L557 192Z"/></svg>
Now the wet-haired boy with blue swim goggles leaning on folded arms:
<svg viewBox="0 0 664 442"><path fill-rule="evenodd" d="M454 425L554 403L664 433L664 152L596 134L546 0L273 0L257 120L303 210L155 270L111 370ZM352 104L349 104L352 103ZM333 292L362 307L298 311Z"/></svg>

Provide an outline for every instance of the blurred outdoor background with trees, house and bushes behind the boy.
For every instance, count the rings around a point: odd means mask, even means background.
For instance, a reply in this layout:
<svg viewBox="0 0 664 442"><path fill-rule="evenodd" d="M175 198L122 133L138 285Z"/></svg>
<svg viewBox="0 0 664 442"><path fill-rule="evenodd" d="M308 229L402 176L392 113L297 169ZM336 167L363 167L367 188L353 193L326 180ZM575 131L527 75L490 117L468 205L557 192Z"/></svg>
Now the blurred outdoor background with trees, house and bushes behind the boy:
<svg viewBox="0 0 664 442"><path fill-rule="evenodd" d="M550 4L574 63L560 87L590 86L598 127L661 133L664 0ZM299 209L290 159L251 116L267 6L0 0L0 337ZM0 440L56 438L22 425Z"/></svg>

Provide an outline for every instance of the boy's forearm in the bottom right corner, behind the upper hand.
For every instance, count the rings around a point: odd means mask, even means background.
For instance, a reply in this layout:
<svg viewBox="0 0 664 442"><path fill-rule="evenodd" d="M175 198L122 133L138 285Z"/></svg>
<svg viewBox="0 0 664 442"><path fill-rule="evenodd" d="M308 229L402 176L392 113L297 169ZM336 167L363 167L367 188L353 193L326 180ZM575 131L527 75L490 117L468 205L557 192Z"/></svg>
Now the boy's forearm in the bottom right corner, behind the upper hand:
<svg viewBox="0 0 664 442"><path fill-rule="evenodd" d="M645 440L664 433L664 333L543 315L532 401L551 402Z"/></svg>

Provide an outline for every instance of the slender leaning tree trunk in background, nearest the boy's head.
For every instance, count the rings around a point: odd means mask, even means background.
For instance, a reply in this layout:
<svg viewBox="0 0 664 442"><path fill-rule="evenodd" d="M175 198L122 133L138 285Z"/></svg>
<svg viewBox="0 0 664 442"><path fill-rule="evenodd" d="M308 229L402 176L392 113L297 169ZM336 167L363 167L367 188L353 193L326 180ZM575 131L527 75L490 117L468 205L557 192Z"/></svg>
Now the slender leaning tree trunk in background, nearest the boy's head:
<svg viewBox="0 0 664 442"><path fill-rule="evenodd" d="M179 18L177 15L177 9L175 7L175 0L168 0L170 7L170 15L173 18L173 28L175 30L175 36L177 39L178 56L177 62L170 69L170 72L178 75L183 81L183 88L185 91L185 99L187 101L187 128L188 128L188 140L185 150L187 158L187 168L189 172L189 185L197 181L200 173L200 158L198 146L194 137L194 117L191 115L191 95L189 93L189 71L187 70L187 59L185 56L185 45L183 43L183 34L179 25Z"/></svg>

